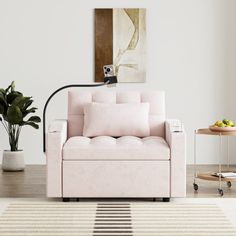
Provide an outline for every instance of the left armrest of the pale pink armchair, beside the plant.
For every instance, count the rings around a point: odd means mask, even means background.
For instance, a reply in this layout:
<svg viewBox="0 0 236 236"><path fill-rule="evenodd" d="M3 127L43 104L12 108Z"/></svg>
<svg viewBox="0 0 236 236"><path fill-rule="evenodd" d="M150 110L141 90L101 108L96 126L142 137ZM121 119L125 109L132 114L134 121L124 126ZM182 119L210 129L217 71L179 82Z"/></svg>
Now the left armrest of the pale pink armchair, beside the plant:
<svg viewBox="0 0 236 236"><path fill-rule="evenodd" d="M62 147L67 140L67 120L55 120L47 133L47 196L62 197Z"/></svg>

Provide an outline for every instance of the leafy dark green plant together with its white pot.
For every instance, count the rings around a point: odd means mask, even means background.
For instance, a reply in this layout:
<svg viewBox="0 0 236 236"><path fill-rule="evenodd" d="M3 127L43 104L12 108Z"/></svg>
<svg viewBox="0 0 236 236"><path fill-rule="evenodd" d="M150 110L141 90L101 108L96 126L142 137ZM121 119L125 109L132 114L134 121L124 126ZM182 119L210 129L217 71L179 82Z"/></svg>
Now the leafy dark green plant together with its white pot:
<svg viewBox="0 0 236 236"><path fill-rule="evenodd" d="M2 169L5 171L24 170L24 152L18 148L21 129L25 125L38 129L37 123L41 121L38 116L29 116L37 110L31 107L32 103L32 97L15 90L14 81L6 89L0 89L0 122L10 144L10 150L3 151Z"/></svg>

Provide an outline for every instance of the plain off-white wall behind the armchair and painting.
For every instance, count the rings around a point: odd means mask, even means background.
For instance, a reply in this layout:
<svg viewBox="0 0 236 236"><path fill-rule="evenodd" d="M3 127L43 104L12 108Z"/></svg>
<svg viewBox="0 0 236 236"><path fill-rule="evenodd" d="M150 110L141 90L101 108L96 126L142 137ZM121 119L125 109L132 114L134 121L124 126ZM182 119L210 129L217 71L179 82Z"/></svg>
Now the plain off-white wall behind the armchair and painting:
<svg viewBox="0 0 236 236"><path fill-rule="evenodd" d="M234 0L0 0L0 87L15 80L41 115L56 88L92 83L93 9L99 7L147 8L147 82L118 89L166 91L167 116L185 123L191 163L194 129L223 117L236 120ZM65 117L66 92L48 114ZM217 161L216 145L214 138L199 139L201 163ZM20 146L27 163L45 163L42 129L25 128ZM0 149L7 147L1 127Z"/></svg>

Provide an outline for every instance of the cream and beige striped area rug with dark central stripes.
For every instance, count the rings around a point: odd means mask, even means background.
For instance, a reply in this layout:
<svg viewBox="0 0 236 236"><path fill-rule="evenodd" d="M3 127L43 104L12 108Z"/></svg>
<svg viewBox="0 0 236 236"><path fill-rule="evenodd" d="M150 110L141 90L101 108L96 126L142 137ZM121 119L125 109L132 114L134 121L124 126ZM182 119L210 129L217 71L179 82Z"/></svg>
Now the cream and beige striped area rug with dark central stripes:
<svg viewBox="0 0 236 236"><path fill-rule="evenodd" d="M12 203L1 236L236 236L216 205L132 202Z"/></svg>

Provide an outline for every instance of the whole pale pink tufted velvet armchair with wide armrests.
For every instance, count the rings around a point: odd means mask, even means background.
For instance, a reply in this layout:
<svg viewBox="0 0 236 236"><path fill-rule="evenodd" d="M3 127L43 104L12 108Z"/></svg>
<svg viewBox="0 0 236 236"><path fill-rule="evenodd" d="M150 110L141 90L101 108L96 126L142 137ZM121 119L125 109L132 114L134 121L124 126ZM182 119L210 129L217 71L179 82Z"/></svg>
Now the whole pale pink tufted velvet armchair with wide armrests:
<svg viewBox="0 0 236 236"><path fill-rule="evenodd" d="M99 124L104 120L97 117L96 121L91 121L90 117L90 121L85 121L89 104L95 104L95 108L96 104L148 104L140 108L144 115L148 109L148 132L139 135L132 129L141 119L138 119L141 115L135 113L133 122L128 118L123 121L131 127L131 131L128 126L124 128L127 133L123 136L103 135L100 127L97 127L98 133L89 134L91 122ZM107 106L104 109L108 109ZM128 110L132 111L132 106ZM134 107L134 111L139 112L139 109ZM106 122L109 123L109 117ZM48 128L47 196L61 197L65 201L69 198L163 198L169 201L171 197L184 197L185 132L173 132L172 125L173 121L165 118L162 91L69 91L68 119L55 120ZM117 128L118 124L115 126Z"/></svg>

